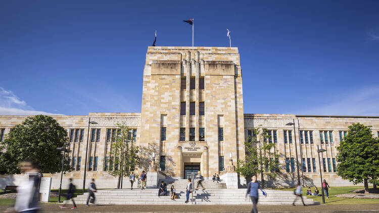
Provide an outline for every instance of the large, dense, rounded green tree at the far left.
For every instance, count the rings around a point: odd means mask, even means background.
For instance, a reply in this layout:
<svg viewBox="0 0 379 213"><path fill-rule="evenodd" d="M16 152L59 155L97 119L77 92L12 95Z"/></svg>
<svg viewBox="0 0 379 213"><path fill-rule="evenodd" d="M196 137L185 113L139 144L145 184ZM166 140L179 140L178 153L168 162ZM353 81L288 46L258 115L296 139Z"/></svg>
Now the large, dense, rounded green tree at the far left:
<svg viewBox="0 0 379 213"><path fill-rule="evenodd" d="M0 145L0 174L20 174L18 163L33 159L42 173L60 172L63 152L57 150L68 141L67 131L50 116L27 117L12 128ZM64 171L70 166L65 161Z"/></svg>

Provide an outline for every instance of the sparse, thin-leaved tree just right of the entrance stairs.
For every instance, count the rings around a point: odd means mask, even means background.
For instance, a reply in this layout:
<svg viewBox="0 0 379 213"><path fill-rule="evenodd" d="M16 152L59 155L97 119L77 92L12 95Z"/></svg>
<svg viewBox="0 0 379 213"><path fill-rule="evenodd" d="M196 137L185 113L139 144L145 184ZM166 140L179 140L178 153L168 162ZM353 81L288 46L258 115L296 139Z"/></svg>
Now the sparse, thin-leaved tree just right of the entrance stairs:
<svg viewBox="0 0 379 213"><path fill-rule="evenodd" d="M269 179L276 178L280 168L279 154L275 148L276 143L269 142L270 138L268 129L261 127L254 129L253 135L245 141L245 159L237 162L236 172L246 179L261 172ZM262 159L259 146L261 146Z"/></svg>

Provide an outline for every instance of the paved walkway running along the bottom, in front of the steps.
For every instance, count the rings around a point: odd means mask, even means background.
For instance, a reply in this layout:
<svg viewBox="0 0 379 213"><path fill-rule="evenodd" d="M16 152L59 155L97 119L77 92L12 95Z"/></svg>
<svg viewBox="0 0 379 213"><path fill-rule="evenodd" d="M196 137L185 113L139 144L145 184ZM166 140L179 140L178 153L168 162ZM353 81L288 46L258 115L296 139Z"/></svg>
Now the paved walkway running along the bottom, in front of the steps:
<svg viewBox="0 0 379 213"><path fill-rule="evenodd" d="M72 206L72 205L70 205ZM4 211L7 206L0 206ZM42 212L250 212L252 205L78 205L76 210L61 209L58 204L42 205ZM379 212L379 204L359 205L258 205L259 212Z"/></svg>

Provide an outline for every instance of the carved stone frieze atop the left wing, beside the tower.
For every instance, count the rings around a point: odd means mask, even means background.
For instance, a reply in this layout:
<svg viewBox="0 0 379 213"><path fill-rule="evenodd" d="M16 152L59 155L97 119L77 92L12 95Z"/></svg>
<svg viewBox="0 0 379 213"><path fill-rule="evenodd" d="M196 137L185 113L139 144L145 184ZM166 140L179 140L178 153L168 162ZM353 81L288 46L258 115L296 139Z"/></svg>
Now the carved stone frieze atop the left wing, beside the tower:
<svg viewBox="0 0 379 213"><path fill-rule="evenodd" d="M125 123L128 127L139 127L141 123L141 119L139 117L92 117L91 120L98 122L98 124L92 124L92 127L116 127L117 123Z"/></svg>

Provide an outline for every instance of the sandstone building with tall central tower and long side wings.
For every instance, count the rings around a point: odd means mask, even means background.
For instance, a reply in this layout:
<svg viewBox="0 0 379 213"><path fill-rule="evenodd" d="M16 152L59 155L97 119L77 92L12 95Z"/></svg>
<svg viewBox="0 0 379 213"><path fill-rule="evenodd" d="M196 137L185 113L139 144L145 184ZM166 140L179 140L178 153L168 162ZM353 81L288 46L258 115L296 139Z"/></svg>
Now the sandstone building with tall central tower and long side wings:
<svg viewBox="0 0 379 213"><path fill-rule="evenodd" d="M322 177L330 185L351 185L336 174L336 147L353 123L372 125L374 135L379 131L379 117L244 114L236 47L149 47L140 114L54 116L69 132L73 171L65 177L78 183L84 173L88 117L98 124L89 130L87 180L96 178L100 188L115 187L117 182L108 175L110 165L103 161L109 156L117 122L125 122L132 129L137 145L147 150L145 154L152 156L155 152L161 173L177 179L197 171L205 178L220 173L228 167L230 157L234 163L244 158L244 141L254 128L267 128L271 136L267 140L276 143L282 165L281 175L271 182L275 186L297 182L295 137L301 179L307 186L317 184L320 178L317 145L326 149L320 158ZM0 138L25 118L0 116ZM286 126L293 119L295 132L293 126ZM140 169L149 170L149 164L143 161ZM53 188L59 184L55 176ZM244 182L242 179L241 184Z"/></svg>

